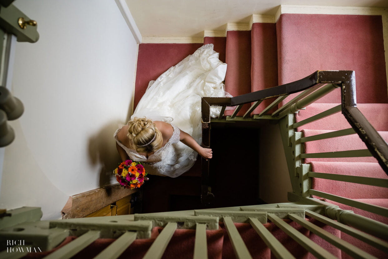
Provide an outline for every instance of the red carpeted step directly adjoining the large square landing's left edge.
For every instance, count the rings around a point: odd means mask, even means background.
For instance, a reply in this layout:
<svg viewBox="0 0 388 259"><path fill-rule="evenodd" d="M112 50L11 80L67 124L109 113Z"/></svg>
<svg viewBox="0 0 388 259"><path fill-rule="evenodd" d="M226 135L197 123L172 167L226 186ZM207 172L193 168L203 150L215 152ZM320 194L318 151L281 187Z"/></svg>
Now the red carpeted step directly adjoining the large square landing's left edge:
<svg viewBox="0 0 388 259"><path fill-rule="evenodd" d="M277 86L276 24L253 23L251 41L251 92ZM251 114L259 114L274 100L264 100Z"/></svg>

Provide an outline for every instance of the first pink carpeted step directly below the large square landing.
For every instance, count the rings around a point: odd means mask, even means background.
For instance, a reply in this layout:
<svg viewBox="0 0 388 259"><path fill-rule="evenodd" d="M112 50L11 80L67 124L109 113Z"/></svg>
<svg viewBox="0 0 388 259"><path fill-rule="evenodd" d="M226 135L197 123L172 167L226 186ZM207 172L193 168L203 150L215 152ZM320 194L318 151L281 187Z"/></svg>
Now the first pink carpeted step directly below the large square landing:
<svg viewBox="0 0 388 259"><path fill-rule="evenodd" d="M306 107L306 110L300 110L296 113L296 122L300 122L313 115L329 110L335 106L340 105L339 103L313 103ZM372 126L378 131L388 131L388 104L387 103L361 103L357 104L357 108L372 124ZM299 127L297 130L302 129L324 129L324 130L340 130L350 128L350 124L346 120L345 116L342 115L341 111L311 122Z"/></svg>

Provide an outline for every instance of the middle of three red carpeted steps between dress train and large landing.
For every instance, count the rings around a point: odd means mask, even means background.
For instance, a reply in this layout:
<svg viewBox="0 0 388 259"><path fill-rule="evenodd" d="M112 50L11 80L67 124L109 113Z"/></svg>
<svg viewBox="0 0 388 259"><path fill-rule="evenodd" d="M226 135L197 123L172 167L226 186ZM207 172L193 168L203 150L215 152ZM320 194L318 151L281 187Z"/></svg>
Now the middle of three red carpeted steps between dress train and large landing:
<svg viewBox="0 0 388 259"><path fill-rule="evenodd" d="M251 92L251 31L228 31L226 37L225 91L232 96ZM237 116L242 116L250 104L245 104ZM225 111L232 115L233 110Z"/></svg>

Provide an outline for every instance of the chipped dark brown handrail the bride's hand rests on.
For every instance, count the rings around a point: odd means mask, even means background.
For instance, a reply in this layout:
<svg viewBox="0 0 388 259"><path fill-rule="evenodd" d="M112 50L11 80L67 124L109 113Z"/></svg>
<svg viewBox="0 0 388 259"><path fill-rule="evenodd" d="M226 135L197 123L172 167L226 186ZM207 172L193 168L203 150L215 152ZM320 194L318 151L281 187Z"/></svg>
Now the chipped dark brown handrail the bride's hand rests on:
<svg viewBox="0 0 388 259"><path fill-rule="evenodd" d="M271 87L241 96L235 97L202 97L202 145L210 146L210 106L236 106L252 103L273 97L284 96L301 92L316 85L327 83L339 84L341 86L342 114L349 124L364 141L371 154L378 160L379 165L388 174L388 144L378 134L376 129L368 122L365 116L357 108L356 83L354 71L316 71L303 79ZM202 159L203 166L203 188L202 195L208 195L208 188L205 184L209 175L209 162Z"/></svg>

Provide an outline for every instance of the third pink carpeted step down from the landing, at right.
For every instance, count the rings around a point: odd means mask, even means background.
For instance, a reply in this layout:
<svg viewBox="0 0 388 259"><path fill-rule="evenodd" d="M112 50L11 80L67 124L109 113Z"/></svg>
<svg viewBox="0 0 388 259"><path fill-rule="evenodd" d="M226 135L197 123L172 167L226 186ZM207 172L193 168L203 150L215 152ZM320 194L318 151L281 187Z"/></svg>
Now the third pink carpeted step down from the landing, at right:
<svg viewBox="0 0 388 259"><path fill-rule="evenodd" d="M309 164L311 165L311 172L388 179L387 174L378 163L310 162ZM311 189L351 199L372 199L376 197L388 199L387 188L321 178L312 178ZM314 198L316 197L314 196Z"/></svg>

